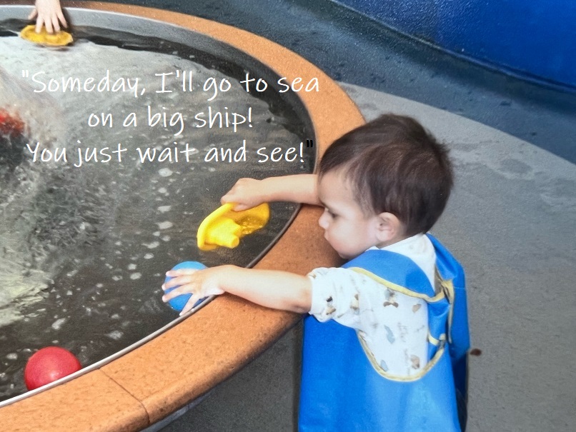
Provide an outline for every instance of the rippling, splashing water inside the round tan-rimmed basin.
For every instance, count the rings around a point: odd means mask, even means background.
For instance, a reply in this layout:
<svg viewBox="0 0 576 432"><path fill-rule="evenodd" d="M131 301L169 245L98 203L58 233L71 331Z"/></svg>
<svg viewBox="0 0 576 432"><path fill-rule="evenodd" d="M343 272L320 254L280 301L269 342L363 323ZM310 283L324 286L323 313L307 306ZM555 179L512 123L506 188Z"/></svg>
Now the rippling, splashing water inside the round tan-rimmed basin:
<svg viewBox="0 0 576 432"><path fill-rule="evenodd" d="M66 149L68 159L33 162L25 149L17 163L0 166L0 401L25 391L22 370L39 348L64 346L88 366L177 318L160 299L167 269L187 260L246 266L292 216L294 206L274 204L269 226L237 249L197 250L199 223L237 179L310 172L312 152L303 162L259 164L256 149L298 146L307 138L294 133L302 125L247 94L237 79L196 62L192 54L167 49L123 49L86 39L71 48L46 49L15 36L0 37L0 58L7 59L0 70L0 107L9 107L27 126L26 136L11 144ZM36 76L46 85L49 78L94 77L97 82L109 74L112 81L137 76L147 90L137 98L121 92L34 93L41 89L31 81L38 71L46 71ZM154 74L175 71L192 72L192 91L154 91L160 89ZM229 80L231 89L207 101L212 93L202 91L202 85L209 76ZM182 113L182 134L177 134L178 124L148 126L147 106L153 113L169 113L168 120ZM195 114L209 106L244 115L250 108L252 127L248 121L237 133L194 127L202 124ZM112 113L114 127L90 127L92 112ZM131 112L138 126L122 126ZM243 140L246 162L204 161L209 149L234 152ZM107 163L100 157L74 166L79 147L114 150L119 143L126 149L121 162L112 154ZM149 147L159 154L184 149L186 143L193 149L189 162L181 157L177 163L141 163L136 151ZM7 154L6 148L0 151Z"/></svg>

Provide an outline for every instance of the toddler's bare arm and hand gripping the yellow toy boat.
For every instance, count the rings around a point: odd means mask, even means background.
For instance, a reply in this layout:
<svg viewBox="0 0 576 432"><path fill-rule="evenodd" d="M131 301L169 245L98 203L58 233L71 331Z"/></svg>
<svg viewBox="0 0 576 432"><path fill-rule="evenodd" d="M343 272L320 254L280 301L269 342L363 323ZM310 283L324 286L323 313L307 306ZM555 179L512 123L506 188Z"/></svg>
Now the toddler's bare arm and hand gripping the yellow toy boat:
<svg viewBox="0 0 576 432"><path fill-rule="evenodd" d="M316 174L268 177L264 180L239 179L222 204L237 203L236 211L251 209L264 202L291 201L319 206Z"/></svg>

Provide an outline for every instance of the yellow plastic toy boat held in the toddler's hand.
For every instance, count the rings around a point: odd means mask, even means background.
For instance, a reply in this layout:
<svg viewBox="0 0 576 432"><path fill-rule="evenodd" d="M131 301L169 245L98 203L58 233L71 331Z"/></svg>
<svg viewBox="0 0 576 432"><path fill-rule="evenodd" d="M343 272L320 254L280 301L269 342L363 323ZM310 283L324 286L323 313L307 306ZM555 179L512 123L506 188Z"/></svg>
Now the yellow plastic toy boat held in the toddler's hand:
<svg viewBox="0 0 576 432"><path fill-rule="evenodd" d="M270 218L266 203L244 211L234 211L233 207L234 204L224 204L200 223L197 237L201 251L211 251L218 246L235 248L240 238L259 230Z"/></svg>

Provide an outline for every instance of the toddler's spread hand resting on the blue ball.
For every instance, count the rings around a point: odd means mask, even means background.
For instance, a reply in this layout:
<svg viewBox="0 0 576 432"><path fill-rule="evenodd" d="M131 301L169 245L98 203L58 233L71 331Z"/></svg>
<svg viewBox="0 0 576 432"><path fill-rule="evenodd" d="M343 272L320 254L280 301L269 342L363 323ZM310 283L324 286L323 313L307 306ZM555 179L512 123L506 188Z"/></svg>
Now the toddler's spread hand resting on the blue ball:
<svg viewBox="0 0 576 432"><path fill-rule="evenodd" d="M224 290L220 288L219 282L221 273L224 273L222 267L204 268L203 270L182 268L180 270L167 271L166 276L172 279L164 283L162 289L166 291L169 288L174 288L174 286L178 286L178 288L165 293L162 296L162 301L167 302L180 294L192 293L192 297L189 298L182 312L180 312L180 315L184 315L200 299L224 293Z"/></svg>

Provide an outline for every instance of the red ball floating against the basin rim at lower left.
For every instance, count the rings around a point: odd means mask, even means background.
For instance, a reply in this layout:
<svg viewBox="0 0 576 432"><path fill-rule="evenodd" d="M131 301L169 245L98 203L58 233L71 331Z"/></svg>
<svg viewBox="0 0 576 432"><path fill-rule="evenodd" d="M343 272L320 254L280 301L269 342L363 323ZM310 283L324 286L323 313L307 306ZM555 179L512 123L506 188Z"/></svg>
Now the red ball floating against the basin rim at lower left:
<svg viewBox="0 0 576 432"><path fill-rule="evenodd" d="M81 368L73 353L59 346L48 346L29 358L24 368L24 382L28 390L34 390Z"/></svg>

